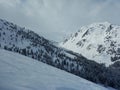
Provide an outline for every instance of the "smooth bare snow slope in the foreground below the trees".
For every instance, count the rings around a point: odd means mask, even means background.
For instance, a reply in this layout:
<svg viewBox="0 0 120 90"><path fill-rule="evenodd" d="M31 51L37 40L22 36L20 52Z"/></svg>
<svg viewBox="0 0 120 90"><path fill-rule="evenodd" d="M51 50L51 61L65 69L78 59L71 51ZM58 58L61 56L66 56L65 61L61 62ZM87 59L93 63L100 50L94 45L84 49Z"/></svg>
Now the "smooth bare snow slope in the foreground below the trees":
<svg viewBox="0 0 120 90"><path fill-rule="evenodd" d="M31 58L0 49L0 90L109 89Z"/></svg>

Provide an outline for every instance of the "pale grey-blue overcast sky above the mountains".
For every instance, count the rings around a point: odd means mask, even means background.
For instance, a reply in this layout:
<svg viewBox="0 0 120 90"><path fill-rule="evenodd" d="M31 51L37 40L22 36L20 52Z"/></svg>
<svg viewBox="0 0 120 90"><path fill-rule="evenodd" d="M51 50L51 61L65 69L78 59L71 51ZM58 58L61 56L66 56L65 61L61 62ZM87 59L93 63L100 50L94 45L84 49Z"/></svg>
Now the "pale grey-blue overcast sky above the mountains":
<svg viewBox="0 0 120 90"><path fill-rule="evenodd" d="M0 18L62 41L83 25L120 25L120 0L0 0Z"/></svg>

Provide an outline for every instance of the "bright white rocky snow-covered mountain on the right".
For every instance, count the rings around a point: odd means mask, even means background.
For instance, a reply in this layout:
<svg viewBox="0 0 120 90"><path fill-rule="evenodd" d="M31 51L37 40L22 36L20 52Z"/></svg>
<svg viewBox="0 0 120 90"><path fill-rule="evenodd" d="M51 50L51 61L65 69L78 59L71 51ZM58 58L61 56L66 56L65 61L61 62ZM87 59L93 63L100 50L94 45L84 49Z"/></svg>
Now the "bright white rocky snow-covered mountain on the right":
<svg viewBox="0 0 120 90"><path fill-rule="evenodd" d="M108 22L83 26L60 46L108 66L120 60L120 26Z"/></svg>

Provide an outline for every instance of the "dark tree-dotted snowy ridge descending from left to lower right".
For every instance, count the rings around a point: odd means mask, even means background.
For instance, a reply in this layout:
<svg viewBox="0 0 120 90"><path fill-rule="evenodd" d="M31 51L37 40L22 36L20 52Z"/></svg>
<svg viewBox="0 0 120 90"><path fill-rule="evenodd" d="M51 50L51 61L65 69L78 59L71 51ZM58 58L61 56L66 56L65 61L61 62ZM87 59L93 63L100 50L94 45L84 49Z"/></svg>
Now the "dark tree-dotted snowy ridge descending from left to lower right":
<svg viewBox="0 0 120 90"><path fill-rule="evenodd" d="M0 19L0 48L33 58L92 82L120 89L120 62L105 67L104 64L60 48L55 42L31 30L2 19Z"/></svg>

